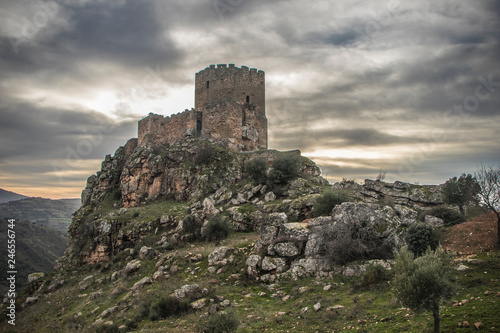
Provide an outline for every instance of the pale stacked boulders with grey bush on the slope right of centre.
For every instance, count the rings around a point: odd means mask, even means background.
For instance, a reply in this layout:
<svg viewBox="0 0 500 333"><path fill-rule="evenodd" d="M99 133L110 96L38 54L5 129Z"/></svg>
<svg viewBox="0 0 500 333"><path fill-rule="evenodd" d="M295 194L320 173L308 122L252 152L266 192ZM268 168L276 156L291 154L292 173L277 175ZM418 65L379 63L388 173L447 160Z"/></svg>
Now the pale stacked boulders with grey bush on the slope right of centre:
<svg viewBox="0 0 500 333"><path fill-rule="evenodd" d="M344 266L336 256L348 256L349 249L356 248L358 258L390 257L416 219L417 212L408 207L361 202L343 203L331 216L301 223L276 219L261 229L254 254L246 261L247 272L266 282L325 272L361 274L367 264Z"/></svg>

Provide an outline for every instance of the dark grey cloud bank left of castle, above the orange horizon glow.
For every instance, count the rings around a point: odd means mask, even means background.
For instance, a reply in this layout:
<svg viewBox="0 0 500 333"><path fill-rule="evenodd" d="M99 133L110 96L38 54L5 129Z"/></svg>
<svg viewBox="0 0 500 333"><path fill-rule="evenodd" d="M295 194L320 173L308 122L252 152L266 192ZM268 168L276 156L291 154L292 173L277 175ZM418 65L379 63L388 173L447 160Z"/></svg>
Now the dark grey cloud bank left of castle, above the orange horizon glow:
<svg viewBox="0 0 500 333"><path fill-rule="evenodd" d="M101 159L136 135L136 121L115 123L88 110L48 109L27 103L0 108L0 162L15 158ZM114 148L115 147L115 148Z"/></svg>

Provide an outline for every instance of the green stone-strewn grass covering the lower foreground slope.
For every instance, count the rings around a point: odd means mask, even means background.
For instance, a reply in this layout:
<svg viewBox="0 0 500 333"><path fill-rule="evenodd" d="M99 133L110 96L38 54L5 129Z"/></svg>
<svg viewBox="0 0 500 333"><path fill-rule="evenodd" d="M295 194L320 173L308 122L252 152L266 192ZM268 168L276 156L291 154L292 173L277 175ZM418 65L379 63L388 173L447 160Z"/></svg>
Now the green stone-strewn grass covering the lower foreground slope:
<svg viewBox="0 0 500 333"><path fill-rule="evenodd" d="M161 207L151 208L151 211ZM147 211L141 213L147 214ZM349 327L359 332L432 331L432 315L415 314L411 310L402 309L395 301L388 281L374 287L361 288L359 277L334 275L331 278L310 277L299 281L280 281L273 290L269 290L268 285L245 278L242 268L256 237L255 233L237 233L221 242L219 246L237 248L234 262L225 266L221 274L207 272L208 254L218 247L208 242L195 242L192 246L184 245L172 251L163 251L157 258L144 260L141 269L131 276L120 277L113 282L105 280L103 284L93 283L85 290L79 289L80 282L85 277L94 275L94 279L107 279L126 263L118 261L109 263L109 267L102 264L100 268L83 266L68 271L63 277L63 287L40 296L36 305L19 311L16 329L18 332L67 332L75 331L81 325L84 327L83 332L92 332L89 327L102 311L117 305L119 311L106 318L117 326L135 322L137 328L132 331L137 332L194 332L200 321L200 314L207 312L209 307L202 312L191 311L157 321L141 317L141 309L160 297L170 295L184 284L198 283L200 287L210 290L208 299L215 299L217 295L237 303L232 308L241 321L238 332L338 332L347 331ZM179 272L170 279L147 286L137 296L130 295L132 285L144 276L152 276L158 258L167 253L172 255L167 264L177 265ZM203 260L190 262L189 257L197 253L203 255ZM470 269L456 272L456 294L441 308L442 332L476 330L458 329L458 323L462 321L468 321L471 326L480 321L486 331L491 331L491 327L500 327L500 297L497 296L500 292L499 257L498 251L478 255L477 259L482 262L465 263ZM197 267L199 270L195 271ZM241 277L234 279L234 274L241 274ZM57 274L52 274L49 278L53 280L56 277ZM209 283L212 279L216 279L217 283ZM332 285L332 288L324 291L326 285ZM308 290L300 292L301 287L307 287ZM95 300L82 296L98 290L103 296ZM265 295L259 296L259 293ZM286 295L291 298L283 300ZM26 296L22 294L19 301ZM466 305L453 306L453 300L463 299L468 300ZM217 300L214 302L218 303ZM322 308L314 312L313 306L317 302L321 303ZM342 305L344 308L327 310L335 305ZM301 310L305 307L309 311L302 313ZM278 315L278 312L284 312L284 315ZM2 320L0 332L11 329L6 325L5 319Z"/></svg>

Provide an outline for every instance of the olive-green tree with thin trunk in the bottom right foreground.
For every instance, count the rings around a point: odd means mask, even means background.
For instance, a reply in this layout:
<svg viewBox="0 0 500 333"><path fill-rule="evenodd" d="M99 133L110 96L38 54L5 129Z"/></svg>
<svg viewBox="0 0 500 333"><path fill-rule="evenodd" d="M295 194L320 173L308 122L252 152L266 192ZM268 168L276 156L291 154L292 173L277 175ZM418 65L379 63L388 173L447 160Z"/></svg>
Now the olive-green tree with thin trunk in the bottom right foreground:
<svg viewBox="0 0 500 333"><path fill-rule="evenodd" d="M435 333L439 333L439 304L453 292L452 273L451 260L441 246L416 259L404 246L395 256L392 284L397 299L414 311L432 311Z"/></svg>

